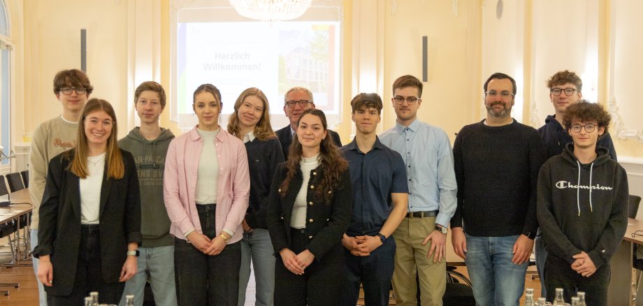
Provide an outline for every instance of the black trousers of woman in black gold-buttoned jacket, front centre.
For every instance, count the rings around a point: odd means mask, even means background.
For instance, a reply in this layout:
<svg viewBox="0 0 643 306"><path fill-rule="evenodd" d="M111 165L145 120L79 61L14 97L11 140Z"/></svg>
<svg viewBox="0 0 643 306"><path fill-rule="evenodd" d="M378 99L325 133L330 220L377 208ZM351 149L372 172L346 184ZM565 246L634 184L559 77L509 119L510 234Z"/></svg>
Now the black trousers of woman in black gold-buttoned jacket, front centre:
<svg viewBox="0 0 643 306"><path fill-rule="evenodd" d="M299 254L308 248L308 237L303 229L291 228L290 247ZM335 306L340 303L344 285L344 251L342 242L323 258L315 258L303 275L295 275L277 256L275 262L275 306Z"/></svg>

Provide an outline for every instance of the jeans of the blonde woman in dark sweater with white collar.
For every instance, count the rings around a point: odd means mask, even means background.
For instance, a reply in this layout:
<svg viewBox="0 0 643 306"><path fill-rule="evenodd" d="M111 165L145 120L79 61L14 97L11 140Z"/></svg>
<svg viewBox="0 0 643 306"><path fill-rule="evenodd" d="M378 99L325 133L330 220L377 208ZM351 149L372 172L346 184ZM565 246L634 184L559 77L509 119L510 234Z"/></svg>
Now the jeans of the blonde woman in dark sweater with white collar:
<svg viewBox="0 0 643 306"><path fill-rule="evenodd" d="M243 233L241 240L241 269L239 270L239 303L245 305L245 290L250 280L250 261L257 284L257 300L254 305L273 306L275 295L275 255L267 229L253 228L252 233Z"/></svg>

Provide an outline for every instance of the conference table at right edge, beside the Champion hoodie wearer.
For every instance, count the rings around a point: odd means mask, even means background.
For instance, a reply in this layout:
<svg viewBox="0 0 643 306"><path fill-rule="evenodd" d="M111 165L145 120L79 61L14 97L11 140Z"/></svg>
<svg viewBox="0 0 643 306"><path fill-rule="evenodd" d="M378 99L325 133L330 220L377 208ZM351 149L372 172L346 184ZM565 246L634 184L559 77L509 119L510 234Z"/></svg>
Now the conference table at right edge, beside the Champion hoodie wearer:
<svg viewBox="0 0 643 306"><path fill-rule="evenodd" d="M643 220L629 218L623 241L610 261L612 279L607 289L607 305L630 305L635 290L632 286L634 245L643 245ZM643 295L637 298L636 305L643 305Z"/></svg>

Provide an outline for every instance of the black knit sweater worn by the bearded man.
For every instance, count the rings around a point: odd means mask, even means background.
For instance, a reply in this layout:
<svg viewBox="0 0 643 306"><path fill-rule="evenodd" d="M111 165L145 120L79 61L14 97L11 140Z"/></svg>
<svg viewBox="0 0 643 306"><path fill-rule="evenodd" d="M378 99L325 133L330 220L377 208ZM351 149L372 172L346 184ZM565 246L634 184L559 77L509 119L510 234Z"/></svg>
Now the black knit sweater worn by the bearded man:
<svg viewBox="0 0 643 306"><path fill-rule="evenodd" d="M464 126L453 147L458 208L451 227L468 235L534 236L536 181L546 152L538 132L512 122Z"/></svg>

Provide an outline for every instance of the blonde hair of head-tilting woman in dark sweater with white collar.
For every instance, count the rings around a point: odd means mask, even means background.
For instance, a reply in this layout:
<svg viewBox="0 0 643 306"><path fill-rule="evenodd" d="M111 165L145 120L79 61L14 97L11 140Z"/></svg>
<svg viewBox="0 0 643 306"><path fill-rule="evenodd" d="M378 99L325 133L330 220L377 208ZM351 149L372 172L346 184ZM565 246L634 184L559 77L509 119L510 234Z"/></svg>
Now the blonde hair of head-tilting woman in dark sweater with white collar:
<svg viewBox="0 0 643 306"><path fill-rule="evenodd" d="M231 133L239 139L243 139L243 135L239 135L241 131L241 128L239 127L239 108L241 107L241 103L243 103L248 96L256 96L261 100L261 102L263 102L261 119L259 119L257 125L254 126L254 137L259 138L259 140L276 138L277 136L275 135L275 131L273 131L273 127L270 126L270 107L268 106L268 98L266 98L266 95L261 92L261 89L256 87L245 89L237 98L237 101L234 103L234 112L230 114L230 118L228 119L228 133Z"/></svg>

